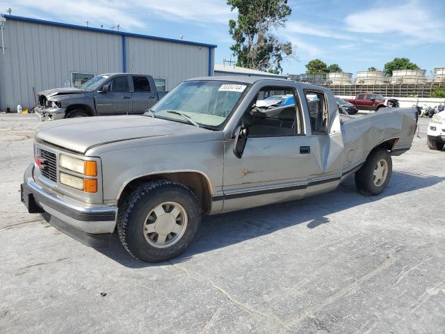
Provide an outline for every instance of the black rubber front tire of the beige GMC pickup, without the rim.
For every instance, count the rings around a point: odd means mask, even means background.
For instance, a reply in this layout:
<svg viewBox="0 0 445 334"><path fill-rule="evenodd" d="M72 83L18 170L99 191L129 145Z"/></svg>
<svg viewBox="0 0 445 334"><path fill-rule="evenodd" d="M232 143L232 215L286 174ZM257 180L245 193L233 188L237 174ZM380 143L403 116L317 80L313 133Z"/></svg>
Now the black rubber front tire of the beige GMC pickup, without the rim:
<svg viewBox="0 0 445 334"><path fill-rule="evenodd" d="M144 224L152 210L163 202L177 202L187 215L182 237L172 246L156 248L145 237ZM161 262L177 257L193 241L201 221L200 205L195 194L182 184L157 180L138 186L119 208L118 234L122 246L139 260Z"/></svg>

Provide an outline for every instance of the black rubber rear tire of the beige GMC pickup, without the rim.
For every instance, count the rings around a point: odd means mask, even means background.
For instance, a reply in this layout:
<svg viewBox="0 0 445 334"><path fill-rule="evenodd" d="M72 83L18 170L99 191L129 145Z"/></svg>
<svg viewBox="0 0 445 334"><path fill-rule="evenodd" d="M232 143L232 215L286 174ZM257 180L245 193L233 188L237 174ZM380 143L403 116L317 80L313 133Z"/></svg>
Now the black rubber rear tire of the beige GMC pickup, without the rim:
<svg viewBox="0 0 445 334"><path fill-rule="evenodd" d="M382 180L380 184L374 183L374 170L381 160L386 161L387 174L385 180ZM362 193L367 195L379 195L384 191L388 185L389 179L391 179L392 173L392 159L389 152L383 148L378 148L369 154L362 168L355 173L355 186Z"/></svg>

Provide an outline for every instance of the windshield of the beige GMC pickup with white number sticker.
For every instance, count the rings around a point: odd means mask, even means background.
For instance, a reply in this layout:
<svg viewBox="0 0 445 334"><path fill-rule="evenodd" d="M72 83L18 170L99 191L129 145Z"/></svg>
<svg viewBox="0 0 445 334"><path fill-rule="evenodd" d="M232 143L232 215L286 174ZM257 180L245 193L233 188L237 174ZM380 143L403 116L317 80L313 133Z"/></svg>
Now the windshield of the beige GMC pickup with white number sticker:
<svg viewBox="0 0 445 334"><path fill-rule="evenodd" d="M156 117L184 122L184 113L199 125L218 127L232 113L247 84L230 81L184 81L151 109Z"/></svg>

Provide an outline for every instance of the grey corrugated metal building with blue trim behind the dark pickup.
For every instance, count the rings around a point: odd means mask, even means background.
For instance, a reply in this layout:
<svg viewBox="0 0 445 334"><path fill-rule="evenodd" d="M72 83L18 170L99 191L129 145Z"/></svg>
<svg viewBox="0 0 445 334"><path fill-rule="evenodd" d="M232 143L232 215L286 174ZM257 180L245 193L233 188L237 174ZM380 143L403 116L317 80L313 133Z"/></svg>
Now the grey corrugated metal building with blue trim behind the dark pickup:
<svg viewBox="0 0 445 334"><path fill-rule="evenodd" d="M159 90L213 75L216 45L41 19L0 17L0 110L35 105L41 90L79 86L96 74L152 75Z"/></svg>

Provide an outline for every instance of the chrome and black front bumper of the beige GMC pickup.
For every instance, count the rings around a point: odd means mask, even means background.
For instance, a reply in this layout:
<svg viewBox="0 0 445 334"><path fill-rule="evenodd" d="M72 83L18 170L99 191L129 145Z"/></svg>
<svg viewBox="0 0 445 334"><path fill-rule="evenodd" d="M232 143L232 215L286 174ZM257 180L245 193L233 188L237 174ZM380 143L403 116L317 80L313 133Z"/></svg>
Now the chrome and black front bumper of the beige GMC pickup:
<svg viewBox="0 0 445 334"><path fill-rule="evenodd" d="M26 168L21 185L22 202L30 214L42 216L58 230L83 244L108 246L118 216L118 207L87 205L49 193L33 179L34 165Z"/></svg>

